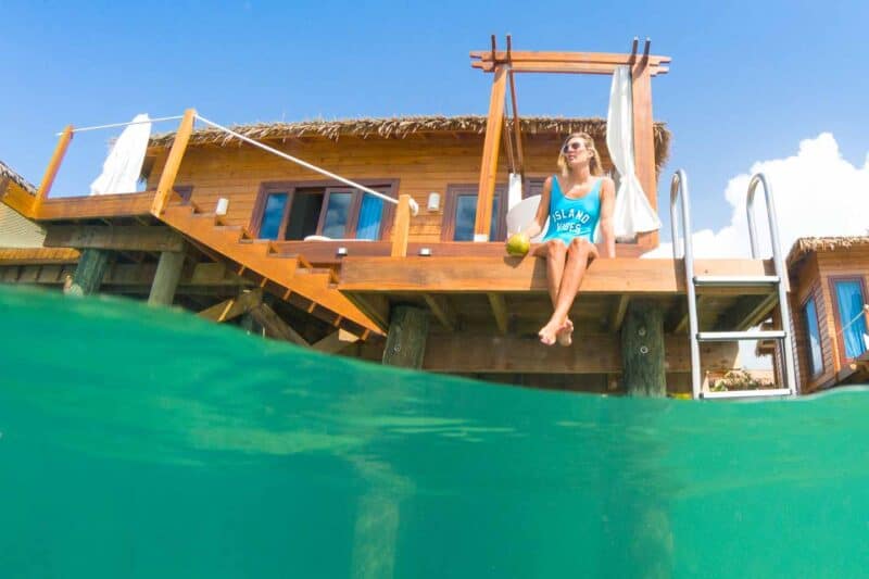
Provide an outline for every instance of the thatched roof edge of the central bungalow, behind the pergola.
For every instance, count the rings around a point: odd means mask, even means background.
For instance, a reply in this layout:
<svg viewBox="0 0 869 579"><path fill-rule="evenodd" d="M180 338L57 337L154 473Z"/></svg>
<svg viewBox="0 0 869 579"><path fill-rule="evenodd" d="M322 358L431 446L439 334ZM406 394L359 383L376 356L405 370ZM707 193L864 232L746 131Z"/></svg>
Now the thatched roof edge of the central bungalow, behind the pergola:
<svg viewBox="0 0 869 579"><path fill-rule="evenodd" d="M512 121L507 125L512 126ZM591 135L599 143L606 141L606 119L532 116L520 119L524 135L565 136L575 131ZM280 140L300 137L322 137L337 141L342 136L361 138L403 139L423 133L486 133L486 116L398 116L392 118L352 118L339 121L301 121L298 123L254 123L236 125L232 130L256 140ZM174 133L155 135L150 146L167 148ZM194 130L192 146L239 146L241 142L215 128ZM655 123L655 159L658 169L669 154L670 131L665 123Z"/></svg>

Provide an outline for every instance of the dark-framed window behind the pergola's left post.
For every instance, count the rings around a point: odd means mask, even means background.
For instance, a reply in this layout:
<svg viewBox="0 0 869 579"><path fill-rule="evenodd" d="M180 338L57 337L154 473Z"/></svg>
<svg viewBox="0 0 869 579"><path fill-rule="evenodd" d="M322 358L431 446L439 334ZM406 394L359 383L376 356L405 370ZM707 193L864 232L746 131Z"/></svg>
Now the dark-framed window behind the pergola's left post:
<svg viewBox="0 0 869 579"><path fill-rule="evenodd" d="M495 187L492 199L492 222L489 239L503 241L507 230L505 187ZM477 186L450 185L446 187L446 200L443 204L443 241L474 241L474 224L477 218Z"/></svg>

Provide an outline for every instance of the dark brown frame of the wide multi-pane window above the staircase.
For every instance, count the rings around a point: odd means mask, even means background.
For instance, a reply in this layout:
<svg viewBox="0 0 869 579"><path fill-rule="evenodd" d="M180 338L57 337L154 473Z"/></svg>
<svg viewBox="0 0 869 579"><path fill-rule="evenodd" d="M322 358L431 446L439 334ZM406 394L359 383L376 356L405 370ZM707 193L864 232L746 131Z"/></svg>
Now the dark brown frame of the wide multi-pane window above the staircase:
<svg viewBox="0 0 869 579"><path fill-rule="evenodd" d="M399 179L356 179L356 182L368 187L370 189L377 190L377 188L383 189L383 194L391 197L398 201L398 190L399 190ZM315 180L315 181L264 181L260 184L260 190L256 193L256 201L253 204L253 211L251 213L251 221L249 223L249 230L251 235L260 239L260 230L263 225L263 213L265 212L266 201L268 200L268 196L274 193L287 193L287 205L284 207L284 214L280 217L280 227L278 228L278 239L275 241L282 242L282 241L293 241L299 242L303 241L301 239L284 239L287 232L287 226L289 225L290 219L290 210L292 209L293 200L295 199L295 193L299 190L305 189L322 189L323 190L323 202L320 204L319 217L317 219L317 229L314 234L311 235L323 235L323 225L325 224L326 219L326 207L328 207L328 200L329 194L333 192L352 192L353 199L351 201L349 215L348 215L348 223L345 226L345 235L344 239L355 239L356 237L356 226L358 225L358 212L362 207L362 199L365 194L364 191L360 191L358 189L354 189L349 185L345 185L341 181L337 180ZM305 194L305 193L302 193ZM383 202L383 213L380 219L380 235L375 241L383 241L388 240L390 235L392 234L392 221L395 213L395 204ZM368 240L365 240L368 241Z"/></svg>

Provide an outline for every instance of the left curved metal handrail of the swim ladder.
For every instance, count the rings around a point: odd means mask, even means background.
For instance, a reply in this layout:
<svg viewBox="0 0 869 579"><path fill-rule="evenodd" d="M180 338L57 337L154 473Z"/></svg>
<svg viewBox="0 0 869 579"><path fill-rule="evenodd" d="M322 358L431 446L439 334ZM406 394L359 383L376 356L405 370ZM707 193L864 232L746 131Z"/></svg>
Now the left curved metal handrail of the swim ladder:
<svg viewBox="0 0 869 579"><path fill-rule="evenodd" d="M691 343L691 391L694 400L700 398L701 367L700 343L697 342L697 309L696 290L694 288L694 247L691 240L691 210L689 203L688 175L683 169L678 169L670 181L670 228L672 230L672 259L679 260L679 226L681 221L684 238L682 254L685 267L685 291L688 291L688 331ZM681 200L681 219L676 213L676 203Z"/></svg>

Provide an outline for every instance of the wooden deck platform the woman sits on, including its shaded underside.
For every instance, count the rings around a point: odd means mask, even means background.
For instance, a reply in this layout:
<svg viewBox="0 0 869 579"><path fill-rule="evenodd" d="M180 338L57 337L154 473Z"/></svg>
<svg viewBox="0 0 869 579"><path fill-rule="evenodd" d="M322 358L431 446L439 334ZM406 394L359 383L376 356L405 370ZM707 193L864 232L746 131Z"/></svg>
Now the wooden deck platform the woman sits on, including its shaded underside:
<svg viewBox="0 0 869 579"><path fill-rule="evenodd" d="M700 260L695 275L771 275L770 261ZM338 289L386 329L392 305L426 307L449 330L533 335L552 311L544 260L537 257L345 257ZM618 330L631 299L651 299L667 312L668 332L687 331L682 263L616 257L589 266L571 311L578 328ZM702 329L742 329L776 304L767 288L698 291Z"/></svg>

